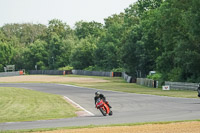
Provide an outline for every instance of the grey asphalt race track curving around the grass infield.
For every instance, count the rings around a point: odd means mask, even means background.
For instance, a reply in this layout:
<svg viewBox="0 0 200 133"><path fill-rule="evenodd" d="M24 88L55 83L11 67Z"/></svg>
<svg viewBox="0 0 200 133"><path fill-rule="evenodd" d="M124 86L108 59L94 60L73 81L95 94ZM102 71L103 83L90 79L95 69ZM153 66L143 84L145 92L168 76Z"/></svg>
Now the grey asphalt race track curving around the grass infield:
<svg viewBox="0 0 200 133"><path fill-rule="evenodd" d="M113 111L112 116L102 116L94 105L96 89L45 83L0 84L0 87L19 87L66 96L94 114L67 119L0 123L0 131L200 119L199 99L100 90L106 96Z"/></svg>

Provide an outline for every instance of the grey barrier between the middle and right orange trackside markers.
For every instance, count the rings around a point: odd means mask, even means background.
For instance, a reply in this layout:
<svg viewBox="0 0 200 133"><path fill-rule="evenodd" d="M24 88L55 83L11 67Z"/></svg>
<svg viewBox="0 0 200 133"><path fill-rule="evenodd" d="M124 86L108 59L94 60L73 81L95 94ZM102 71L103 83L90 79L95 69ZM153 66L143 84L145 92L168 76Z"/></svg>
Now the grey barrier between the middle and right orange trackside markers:
<svg viewBox="0 0 200 133"><path fill-rule="evenodd" d="M75 74L75 75L87 75L87 76L112 77L112 72L98 72L98 71L72 70L72 74Z"/></svg>

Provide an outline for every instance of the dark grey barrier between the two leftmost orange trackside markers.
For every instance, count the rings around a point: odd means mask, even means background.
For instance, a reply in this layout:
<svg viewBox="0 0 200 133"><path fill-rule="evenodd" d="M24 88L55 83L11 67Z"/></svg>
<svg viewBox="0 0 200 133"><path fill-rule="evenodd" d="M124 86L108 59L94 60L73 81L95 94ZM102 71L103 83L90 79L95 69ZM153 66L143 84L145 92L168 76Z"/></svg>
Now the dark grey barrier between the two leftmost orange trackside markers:
<svg viewBox="0 0 200 133"><path fill-rule="evenodd" d="M65 75L62 70L30 70L29 74L42 74L42 75Z"/></svg>

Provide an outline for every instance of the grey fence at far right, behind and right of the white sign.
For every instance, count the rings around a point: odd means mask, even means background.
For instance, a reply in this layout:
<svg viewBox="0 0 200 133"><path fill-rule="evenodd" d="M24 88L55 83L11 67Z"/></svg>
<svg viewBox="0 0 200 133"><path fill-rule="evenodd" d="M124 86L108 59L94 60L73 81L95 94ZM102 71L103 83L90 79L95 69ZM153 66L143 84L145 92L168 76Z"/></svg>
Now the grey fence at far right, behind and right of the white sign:
<svg viewBox="0 0 200 133"><path fill-rule="evenodd" d="M165 81L165 85L168 85L170 86L170 89L175 89L175 90L197 90L198 88L198 83Z"/></svg>

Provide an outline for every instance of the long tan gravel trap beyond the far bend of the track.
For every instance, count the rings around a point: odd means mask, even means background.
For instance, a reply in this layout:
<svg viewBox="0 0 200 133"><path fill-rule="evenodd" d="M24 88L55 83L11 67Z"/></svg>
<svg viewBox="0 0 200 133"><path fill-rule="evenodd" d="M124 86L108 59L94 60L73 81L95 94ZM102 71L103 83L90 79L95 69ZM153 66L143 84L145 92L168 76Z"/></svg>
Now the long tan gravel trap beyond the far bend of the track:
<svg viewBox="0 0 200 133"><path fill-rule="evenodd" d="M0 82L99 83L99 82L109 82L109 81L98 78L81 78L81 77L48 76L48 75L22 75L13 77L0 77Z"/></svg>

